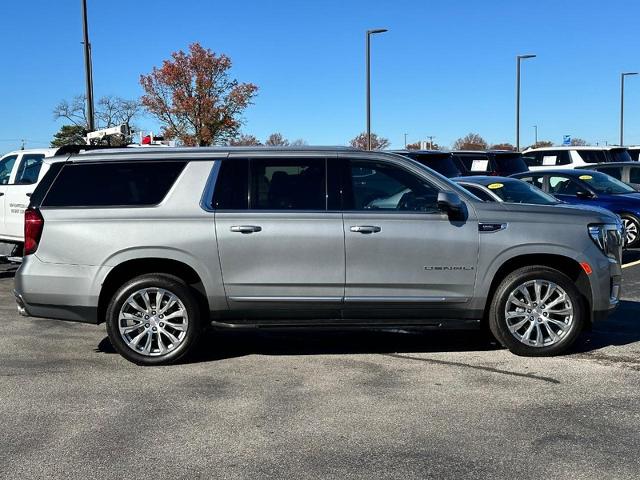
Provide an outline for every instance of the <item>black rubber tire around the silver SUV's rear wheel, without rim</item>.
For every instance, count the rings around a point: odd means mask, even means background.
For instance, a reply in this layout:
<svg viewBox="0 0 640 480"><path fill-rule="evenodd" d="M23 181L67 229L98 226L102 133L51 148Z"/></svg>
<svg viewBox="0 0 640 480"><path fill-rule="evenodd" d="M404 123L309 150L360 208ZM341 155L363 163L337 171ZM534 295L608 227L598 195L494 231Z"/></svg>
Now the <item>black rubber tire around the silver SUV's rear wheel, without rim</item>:
<svg viewBox="0 0 640 480"><path fill-rule="evenodd" d="M187 313L188 326L184 337L181 339L181 343L177 347L169 350L166 354L151 356L139 353L134 348L130 347L120 334L119 316L123 304L132 294L145 288L160 288L171 292L180 300L180 302L182 302L184 310ZM152 320L159 321L155 316ZM106 324L107 335L109 335L111 344L120 355L130 362L137 365L147 366L168 365L184 359L194 351L201 336L202 315L193 292L183 280L168 274L146 274L129 280L116 291L109 302L109 306L107 307ZM167 323L167 325L169 325L169 323ZM140 332L142 332L142 328L153 327L143 326L141 327L141 330L139 330ZM171 332L176 335L180 335L175 330L171 330ZM157 336L159 337L160 334L158 333ZM163 338L166 340L168 337ZM165 342L163 342L163 345L164 343ZM157 345L158 343L156 341L156 346Z"/></svg>

